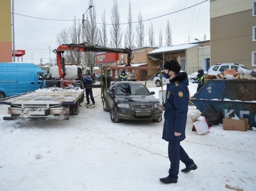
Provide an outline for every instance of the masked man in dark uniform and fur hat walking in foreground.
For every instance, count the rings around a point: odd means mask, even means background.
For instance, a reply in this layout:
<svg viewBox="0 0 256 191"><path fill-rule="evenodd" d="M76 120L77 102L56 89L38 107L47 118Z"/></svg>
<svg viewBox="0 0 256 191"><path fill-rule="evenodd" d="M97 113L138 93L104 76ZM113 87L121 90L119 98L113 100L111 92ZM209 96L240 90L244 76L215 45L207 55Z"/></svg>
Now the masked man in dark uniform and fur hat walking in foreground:
<svg viewBox="0 0 256 191"><path fill-rule="evenodd" d="M165 111L162 139L168 141L168 158L171 164L168 176L160 178L160 182L172 184L178 181L180 160L186 166L181 170L184 173L197 169L197 166L180 145L186 137L185 129L189 109L188 75L186 72L179 73L181 66L176 60L165 62L164 69L164 77L169 79L170 83L167 84L164 108L158 109Z"/></svg>

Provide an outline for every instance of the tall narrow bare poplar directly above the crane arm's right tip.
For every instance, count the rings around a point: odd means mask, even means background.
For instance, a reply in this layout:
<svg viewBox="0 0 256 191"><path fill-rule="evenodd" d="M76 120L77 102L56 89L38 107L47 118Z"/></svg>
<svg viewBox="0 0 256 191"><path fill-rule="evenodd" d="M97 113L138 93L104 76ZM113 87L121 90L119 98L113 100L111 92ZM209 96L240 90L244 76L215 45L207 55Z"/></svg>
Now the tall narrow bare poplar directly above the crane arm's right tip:
<svg viewBox="0 0 256 191"><path fill-rule="evenodd" d="M129 0L128 26L124 36L124 47L129 49L134 48L134 33L133 33L132 17L133 16L131 11L131 0Z"/></svg>

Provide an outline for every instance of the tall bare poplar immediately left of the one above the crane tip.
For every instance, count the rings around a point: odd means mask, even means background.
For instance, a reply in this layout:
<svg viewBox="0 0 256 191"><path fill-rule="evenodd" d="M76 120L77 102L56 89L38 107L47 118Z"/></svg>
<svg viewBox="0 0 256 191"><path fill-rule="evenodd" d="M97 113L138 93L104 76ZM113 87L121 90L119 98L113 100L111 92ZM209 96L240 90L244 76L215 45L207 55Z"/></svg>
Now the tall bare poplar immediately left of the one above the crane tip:
<svg viewBox="0 0 256 191"><path fill-rule="evenodd" d="M112 29L111 29L111 42L110 45L113 48L121 48L121 29L120 29L120 14L118 12L118 4L117 0L113 0L113 7L112 7Z"/></svg>

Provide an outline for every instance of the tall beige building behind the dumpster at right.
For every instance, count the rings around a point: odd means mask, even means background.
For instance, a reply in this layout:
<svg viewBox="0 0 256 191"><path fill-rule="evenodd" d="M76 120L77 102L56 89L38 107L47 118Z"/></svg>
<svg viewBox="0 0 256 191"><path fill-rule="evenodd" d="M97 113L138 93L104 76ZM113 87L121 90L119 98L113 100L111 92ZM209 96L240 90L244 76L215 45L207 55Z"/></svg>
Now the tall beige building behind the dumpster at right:
<svg viewBox="0 0 256 191"><path fill-rule="evenodd" d="M210 62L256 69L256 1L210 0Z"/></svg>

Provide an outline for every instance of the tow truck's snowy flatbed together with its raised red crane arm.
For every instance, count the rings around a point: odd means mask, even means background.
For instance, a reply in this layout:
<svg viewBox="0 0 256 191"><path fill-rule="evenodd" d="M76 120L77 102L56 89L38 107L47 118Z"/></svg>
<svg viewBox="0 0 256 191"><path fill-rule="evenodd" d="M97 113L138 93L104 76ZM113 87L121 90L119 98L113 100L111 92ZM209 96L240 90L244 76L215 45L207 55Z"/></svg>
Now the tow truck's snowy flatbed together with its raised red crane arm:
<svg viewBox="0 0 256 191"><path fill-rule="evenodd" d="M46 88L37 89L18 96L8 97L0 100L0 104L10 105L8 114L3 120L68 120L69 115L78 115L80 103L84 101L85 88L82 83L82 75L77 76L73 81L65 80L65 51L79 52L113 52L127 54L127 65L129 66L133 58L131 49L108 48L99 45L63 44L54 50L57 55L57 65L60 78L58 80L45 80ZM107 68L103 72L108 73ZM91 88L101 88L103 108L104 92L107 88L107 78L105 83L92 85ZM43 83L42 82L42 83ZM90 88L87 86L87 88Z"/></svg>

